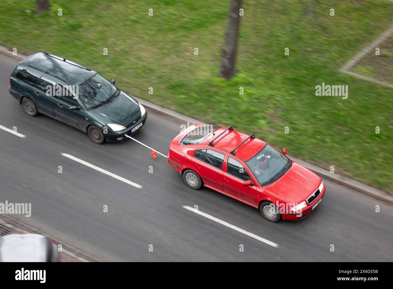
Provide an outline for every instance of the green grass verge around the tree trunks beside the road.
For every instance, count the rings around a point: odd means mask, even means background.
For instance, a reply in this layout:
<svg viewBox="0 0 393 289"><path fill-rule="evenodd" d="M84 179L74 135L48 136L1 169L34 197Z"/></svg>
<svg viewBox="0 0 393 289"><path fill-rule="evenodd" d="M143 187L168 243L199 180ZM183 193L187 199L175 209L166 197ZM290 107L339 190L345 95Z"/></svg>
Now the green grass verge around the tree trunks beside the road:
<svg viewBox="0 0 393 289"><path fill-rule="evenodd" d="M34 2L2 1L1 44L72 59L130 94L393 191L393 91L338 72L391 25L393 3L246 0L238 73L226 81L217 75L229 0L50 0L41 15L26 12ZM348 85L348 99L316 96L322 83Z"/></svg>

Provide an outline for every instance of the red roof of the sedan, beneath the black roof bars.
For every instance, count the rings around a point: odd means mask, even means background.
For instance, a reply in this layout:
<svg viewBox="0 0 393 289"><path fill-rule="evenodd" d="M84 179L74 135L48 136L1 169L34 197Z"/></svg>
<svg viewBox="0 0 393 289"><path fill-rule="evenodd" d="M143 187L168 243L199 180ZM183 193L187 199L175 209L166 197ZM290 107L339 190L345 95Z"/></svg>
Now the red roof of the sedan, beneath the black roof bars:
<svg viewBox="0 0 393 289"><path fill-rule="evenodd" d="M220 127L214 132L215 135L209 135L202 142L202 144L209 144L209 142L213 140L213 138L218 136L225 129L226 127ZM241 133L240 131L237 131L235 129L233 131L228 130L214 141L214 147L217 147L229 153L235 147L241 144L242 141L248 138L248 136L250 135ZM255 156L264 147L265 144L266 143L263 140L259 140L258 138L250 138L236 149L235 155L244 161L249 160L250 158Z"/></svg>

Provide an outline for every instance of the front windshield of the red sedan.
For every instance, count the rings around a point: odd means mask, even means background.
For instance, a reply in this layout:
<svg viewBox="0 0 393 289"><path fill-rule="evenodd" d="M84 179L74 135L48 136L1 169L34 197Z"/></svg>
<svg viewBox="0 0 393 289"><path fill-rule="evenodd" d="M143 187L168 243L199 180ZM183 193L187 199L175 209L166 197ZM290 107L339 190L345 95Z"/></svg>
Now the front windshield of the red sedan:
<svg viewBox="0 0 393 289"><path fill-rule="evenodd" d="M267 186L283 176L292 165L292 161L266 144L259 153L246 161L246 164L259 184Z"/></svg>

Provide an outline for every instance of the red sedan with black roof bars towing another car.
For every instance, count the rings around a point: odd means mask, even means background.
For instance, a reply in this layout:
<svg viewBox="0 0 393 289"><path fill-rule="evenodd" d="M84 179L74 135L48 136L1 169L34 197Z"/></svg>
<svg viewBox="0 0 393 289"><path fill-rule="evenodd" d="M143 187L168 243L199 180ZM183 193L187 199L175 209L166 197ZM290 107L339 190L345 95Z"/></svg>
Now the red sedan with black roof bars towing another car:
<svg viewBox="0 0 393 289"><path fill-rule="evenodd" d="M191 125L171 142L168 164L191 189L206 186L258 208L271 222L299 220L322 201L320 177L263 140L233 129Z"/></svg>

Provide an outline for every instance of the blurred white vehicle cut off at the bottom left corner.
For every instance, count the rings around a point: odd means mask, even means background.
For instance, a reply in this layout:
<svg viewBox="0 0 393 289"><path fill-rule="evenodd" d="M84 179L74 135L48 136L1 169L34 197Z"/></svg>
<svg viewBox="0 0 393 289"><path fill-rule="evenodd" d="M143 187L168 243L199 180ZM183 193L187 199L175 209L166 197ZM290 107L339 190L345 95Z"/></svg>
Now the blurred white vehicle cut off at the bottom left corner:
<svg viewBox="0 0 393 289"><path fill-rule="evenodd" d="M58 262L57 244L38 234L9 234L0 238L2 262Z"/></svg>

